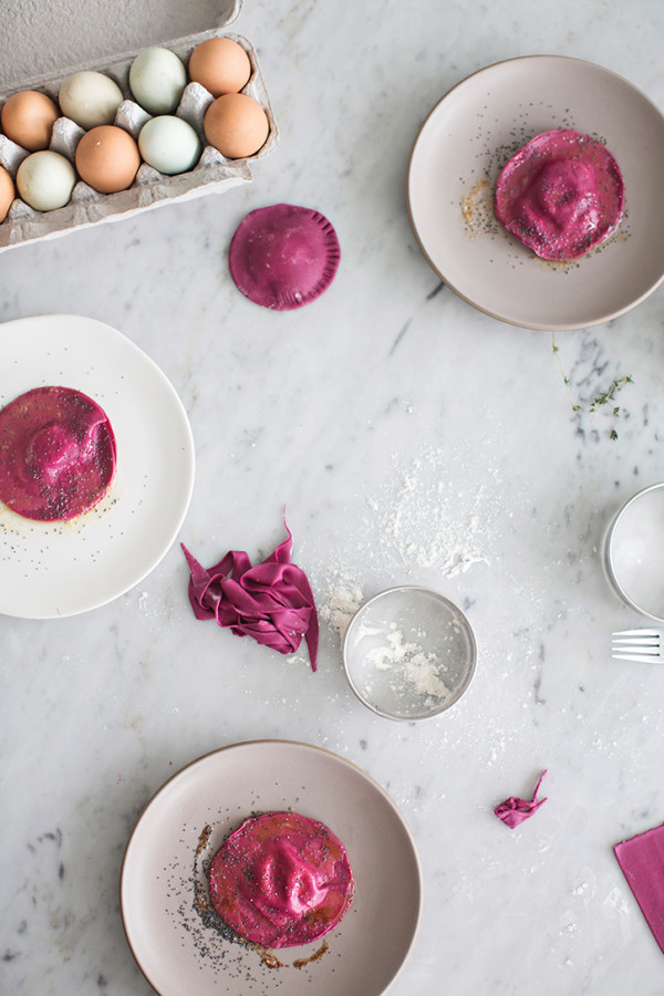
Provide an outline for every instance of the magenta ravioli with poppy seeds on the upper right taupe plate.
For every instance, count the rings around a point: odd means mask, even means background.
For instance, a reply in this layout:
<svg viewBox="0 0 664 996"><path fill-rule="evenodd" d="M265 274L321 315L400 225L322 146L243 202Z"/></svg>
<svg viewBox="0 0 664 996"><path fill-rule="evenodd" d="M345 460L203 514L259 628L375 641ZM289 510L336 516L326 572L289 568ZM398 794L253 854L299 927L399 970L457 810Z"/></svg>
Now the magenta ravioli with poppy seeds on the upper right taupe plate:
<svg viewBox="0 0 664 996"><path fill-rule="evenodd" d="M623 205L618 163L601 142L572 128L536 135L496 184L498 221L542 259L583 256L615 231Z"/></svg>

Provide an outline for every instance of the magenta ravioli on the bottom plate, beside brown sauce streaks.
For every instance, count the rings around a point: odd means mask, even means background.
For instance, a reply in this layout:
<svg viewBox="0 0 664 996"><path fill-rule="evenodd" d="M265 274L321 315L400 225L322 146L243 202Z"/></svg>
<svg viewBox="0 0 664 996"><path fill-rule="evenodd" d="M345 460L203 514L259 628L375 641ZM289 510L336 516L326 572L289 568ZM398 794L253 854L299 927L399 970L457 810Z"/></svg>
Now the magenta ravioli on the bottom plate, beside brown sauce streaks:
<svg viewBox="0 0 664 996"><path fill-rule="evenodd" d="M297 812L250 817L212 858L210 901L225 923L263 947L293 947L333 930L353 900L342 842Z"/></svg>

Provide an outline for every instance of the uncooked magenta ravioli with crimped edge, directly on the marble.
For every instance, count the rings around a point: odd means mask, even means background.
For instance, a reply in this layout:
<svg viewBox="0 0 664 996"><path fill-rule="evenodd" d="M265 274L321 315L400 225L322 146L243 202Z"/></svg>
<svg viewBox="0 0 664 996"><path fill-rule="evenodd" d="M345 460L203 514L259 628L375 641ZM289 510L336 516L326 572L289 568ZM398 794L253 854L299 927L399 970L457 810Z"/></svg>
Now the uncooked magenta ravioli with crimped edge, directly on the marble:
<svg viewBox="0 0 664 996"><path fill-rule="evenodd" d="M230 242L230 273L239 290L263 308L290 311L332 283L341 250L319 211L276 204L247 215Z"/></svg>

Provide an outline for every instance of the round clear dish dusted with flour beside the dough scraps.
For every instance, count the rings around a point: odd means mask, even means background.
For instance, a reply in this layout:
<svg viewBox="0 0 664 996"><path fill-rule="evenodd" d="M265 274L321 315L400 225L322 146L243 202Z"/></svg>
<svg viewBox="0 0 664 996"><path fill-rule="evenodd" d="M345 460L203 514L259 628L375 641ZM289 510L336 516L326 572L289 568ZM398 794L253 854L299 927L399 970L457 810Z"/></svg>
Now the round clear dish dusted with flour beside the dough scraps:
<svg viewBox="0 0 664 996"><path fill-rule="evenodd" d="M343 641L343 664L360 702L385 719L428 719L458 702L477 646L457 606L427 588L403 585L365 602Z"/></svg>

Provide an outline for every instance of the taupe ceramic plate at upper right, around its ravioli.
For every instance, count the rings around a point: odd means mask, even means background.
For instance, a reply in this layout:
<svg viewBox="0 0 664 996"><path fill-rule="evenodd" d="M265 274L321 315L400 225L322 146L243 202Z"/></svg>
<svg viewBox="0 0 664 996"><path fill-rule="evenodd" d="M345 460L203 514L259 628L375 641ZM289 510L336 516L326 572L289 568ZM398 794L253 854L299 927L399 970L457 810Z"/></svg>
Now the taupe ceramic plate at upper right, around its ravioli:
<svg viewBox="0 0 664 996"><path fill-rule="evenodd" d="M625 214L604 243L568 263L539 259L495 218L507 159L540 132L604 142L625 184ZM449 91L413 146L407 201L419 247L442 280L492 318L562 331L606 322L664 279L664 117L610 70L557 55L510 59Z"/></svg>

